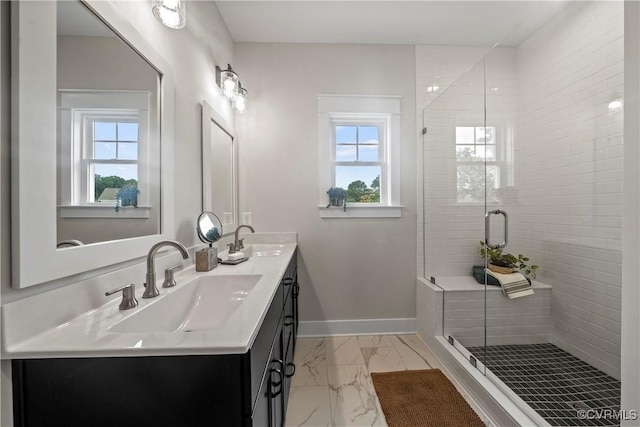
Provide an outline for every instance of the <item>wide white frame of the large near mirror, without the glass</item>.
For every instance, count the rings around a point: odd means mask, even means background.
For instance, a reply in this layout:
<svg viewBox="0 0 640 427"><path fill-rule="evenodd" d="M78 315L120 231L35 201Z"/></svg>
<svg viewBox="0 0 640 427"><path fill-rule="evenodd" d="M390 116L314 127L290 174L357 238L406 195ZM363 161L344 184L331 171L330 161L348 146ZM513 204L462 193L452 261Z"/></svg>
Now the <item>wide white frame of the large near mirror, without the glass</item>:
<svg viewBox="0 0 640 427"><path fill-rule="evenodd" d="M11 4L12 287L71 283L144 257L174 237L174 87L169 65L110 2L83 0L158 71L160 234L56 249L56 2ZM42 70L52 72L42 72ZM47 143L48 142L48 143ZM121 267L122 265L120 265Z"/></svg>

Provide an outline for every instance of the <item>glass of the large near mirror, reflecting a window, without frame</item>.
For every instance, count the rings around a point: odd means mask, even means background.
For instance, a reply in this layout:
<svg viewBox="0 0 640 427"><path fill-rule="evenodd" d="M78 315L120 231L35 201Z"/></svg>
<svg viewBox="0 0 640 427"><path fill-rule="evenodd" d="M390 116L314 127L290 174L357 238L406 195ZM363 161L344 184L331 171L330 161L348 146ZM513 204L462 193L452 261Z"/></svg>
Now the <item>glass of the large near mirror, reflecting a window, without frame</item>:
<svg viewBox="0 0 640 427"><path fill-rule="evenodd" d="M57 241L158 234L160 75L82 3L57 23Z"/></svg>

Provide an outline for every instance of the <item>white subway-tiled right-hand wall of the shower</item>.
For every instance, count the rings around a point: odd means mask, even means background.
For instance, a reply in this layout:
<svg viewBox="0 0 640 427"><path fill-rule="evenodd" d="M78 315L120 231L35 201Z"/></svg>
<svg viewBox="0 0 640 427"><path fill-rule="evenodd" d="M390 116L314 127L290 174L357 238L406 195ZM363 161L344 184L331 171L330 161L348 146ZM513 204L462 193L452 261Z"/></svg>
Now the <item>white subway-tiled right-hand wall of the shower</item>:
<svg viewBox="0 0 640 427"><path fill-rule="evenodd" d="M559 347L620 378L623 4L576 2L518 47L513 248L553 286Z"/></svg>

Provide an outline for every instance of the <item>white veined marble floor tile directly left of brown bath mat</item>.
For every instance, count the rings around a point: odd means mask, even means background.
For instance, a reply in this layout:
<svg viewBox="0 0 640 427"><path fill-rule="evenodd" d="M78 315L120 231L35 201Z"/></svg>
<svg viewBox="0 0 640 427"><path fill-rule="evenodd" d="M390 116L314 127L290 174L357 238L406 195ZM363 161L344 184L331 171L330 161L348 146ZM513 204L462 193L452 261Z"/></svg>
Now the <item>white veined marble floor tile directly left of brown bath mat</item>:
<svg viewBox="0 0 640 427"><path fill-rule="evenodd" d="M386 425L364 365L329 366L328 373L334 426Z"/></svg>

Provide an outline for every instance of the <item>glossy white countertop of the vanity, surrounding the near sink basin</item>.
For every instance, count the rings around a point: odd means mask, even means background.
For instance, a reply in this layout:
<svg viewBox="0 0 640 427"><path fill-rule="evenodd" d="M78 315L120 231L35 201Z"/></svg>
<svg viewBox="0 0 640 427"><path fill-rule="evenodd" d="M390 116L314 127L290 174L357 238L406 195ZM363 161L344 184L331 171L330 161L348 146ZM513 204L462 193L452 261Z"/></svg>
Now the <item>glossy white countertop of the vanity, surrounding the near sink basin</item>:
<svg viewBox="0 0 640 427"><path fill-rule="evenodd" d="M296 251L295 243L283 243L280 256L252 257L238 265L219 265L206 272L196 272L194 266L176 273L175 288L161 288L160 296L143 299L144 288L138 285L136 298L139 306L121 311L118 304L121 294L105 297L108 301L73 319L58 325L48 325L42 332L30 337L6 334L3 330L3 358L62 358L62 357L113 357L113 356L167 356L196 354L241 354L249 350L267 313L282 276ZM156 270L158 268L156 267ZM156 271L158 277L162 270ZM170 295L199 275L246 275L262 277L246 300L229 316L224 326L205 331L167 333L112 333L108 329L149 304ZM43 299L43 298L41 298ZM109 301L109 299L111 299ZM55 303L55 298L51 300ZM72 303L72 302L69 302ZM8 307L11 309L11 307ZM16 307L14 307L16 308ZM6 328L7 307L3 307ZM48 308L50 309L50 308ZM64 309L64 308L61 308ZM9 310L10 312L10 310ZM37 314L34 314L37 317ZM10 316L9 316L10 317ZM15 339L7 339L15 337Z"/></svg>

